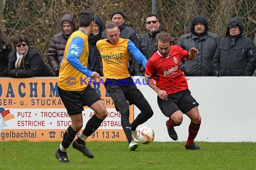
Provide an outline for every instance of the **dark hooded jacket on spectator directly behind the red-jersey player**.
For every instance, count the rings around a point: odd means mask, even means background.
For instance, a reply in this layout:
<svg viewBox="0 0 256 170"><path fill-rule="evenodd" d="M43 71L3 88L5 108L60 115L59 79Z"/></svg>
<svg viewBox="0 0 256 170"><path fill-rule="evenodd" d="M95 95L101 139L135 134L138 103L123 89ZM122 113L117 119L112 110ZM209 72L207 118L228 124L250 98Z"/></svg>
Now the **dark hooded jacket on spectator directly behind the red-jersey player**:
<svg viewBox="0 0 256 170"><path fill-rule="evenodd" d="M203 23L205 31L197 34L194 26L197 23ZM204 16L196 16L191 22L189 34L182 35L177 45L190 51L192 47L198 49L199 53L191 61L181 60L181 71L186 76L213 76L213 56L219 43L219 36L208 32L208 21Z"/></svg>

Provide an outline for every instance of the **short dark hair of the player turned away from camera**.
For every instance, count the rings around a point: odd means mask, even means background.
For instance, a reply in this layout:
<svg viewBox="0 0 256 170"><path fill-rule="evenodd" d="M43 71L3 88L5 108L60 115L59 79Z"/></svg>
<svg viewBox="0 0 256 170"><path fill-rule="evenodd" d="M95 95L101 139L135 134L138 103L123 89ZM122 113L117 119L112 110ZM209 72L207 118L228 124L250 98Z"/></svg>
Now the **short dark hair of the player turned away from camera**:
<svg viewBox="0 0 256 170"><path fill-rule="evenodd" d="M79 27L90 26L92 21L94 21L94 14L92 11L83 10L79 12L79 16L78 16Z"/></svg>

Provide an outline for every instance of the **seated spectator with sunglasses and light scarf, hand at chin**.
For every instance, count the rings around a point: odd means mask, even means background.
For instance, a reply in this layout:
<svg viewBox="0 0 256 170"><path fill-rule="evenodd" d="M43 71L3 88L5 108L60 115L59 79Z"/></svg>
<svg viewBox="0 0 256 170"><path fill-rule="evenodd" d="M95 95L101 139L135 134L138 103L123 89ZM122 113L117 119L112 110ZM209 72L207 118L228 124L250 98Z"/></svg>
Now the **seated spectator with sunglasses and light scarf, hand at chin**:
<svg viewBox="0 0 256 170"><path fill-rule="evenodd" d="M38 51L29 47L25 35L14 38L13 45L15 50L9 54L8 76L15 78L55 76Z"/></svg>

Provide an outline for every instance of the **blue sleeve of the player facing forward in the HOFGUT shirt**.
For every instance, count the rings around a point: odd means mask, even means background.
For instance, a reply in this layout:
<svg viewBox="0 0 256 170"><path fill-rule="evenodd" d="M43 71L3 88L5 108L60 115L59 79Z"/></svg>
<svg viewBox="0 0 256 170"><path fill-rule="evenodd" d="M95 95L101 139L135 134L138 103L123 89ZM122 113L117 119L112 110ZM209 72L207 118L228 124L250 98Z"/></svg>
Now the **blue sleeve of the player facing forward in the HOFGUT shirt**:
<svg viewBox="0 0 256 170"><path fill-rule="evenodd" d="M139 51L139 49L137 49L137 47L135 46L134 43L132 43L131 40L128 41L127 48L128 48L129 53L132 55L132 57L135 58L139 64L143 65L144 68L146 68L146 64L147 64L148 60L141 53L141 51Z"/></svg>

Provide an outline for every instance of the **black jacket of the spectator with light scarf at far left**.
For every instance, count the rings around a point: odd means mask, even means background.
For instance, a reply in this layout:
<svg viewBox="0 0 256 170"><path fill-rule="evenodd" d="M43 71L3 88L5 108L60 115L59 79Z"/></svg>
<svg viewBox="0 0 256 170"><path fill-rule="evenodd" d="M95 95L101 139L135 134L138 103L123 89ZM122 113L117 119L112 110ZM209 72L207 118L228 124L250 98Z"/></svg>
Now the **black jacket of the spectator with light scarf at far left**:
<svg viewBox="0 0 256 170"><path fill-rule="evenodd" d="M17 51L13 50L9 55L7 72L10 77L25 78L34 76L55 76L51 69L44 63L44 60L34 48L28 47L24 58L25 68L15 68Z"/></svg>

